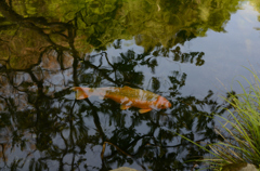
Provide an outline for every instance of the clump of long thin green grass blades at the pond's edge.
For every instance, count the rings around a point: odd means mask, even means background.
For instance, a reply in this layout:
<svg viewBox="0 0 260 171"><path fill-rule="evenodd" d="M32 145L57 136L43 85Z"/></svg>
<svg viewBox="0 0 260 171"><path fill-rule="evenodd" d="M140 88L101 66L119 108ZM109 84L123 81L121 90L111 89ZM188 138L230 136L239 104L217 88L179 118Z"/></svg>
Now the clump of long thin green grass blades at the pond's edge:
<svg viewBox="0 0 260 171"><path fill-rule="evenodd" d="M222 127L216 129L223 141L208 145L210 149L207 149L207 147L181 135L213 156L200 160L212 170L224 170L230 165L252 163L256 167L260 166L260 79L256 71L248 70L253 76L253 83L243 77L248 83L248 87L245 88L237 81L243 93L231 93L229 98L223 97L233 106L232 110L227 109L229 117L217 115L223 120Z"/></svg>

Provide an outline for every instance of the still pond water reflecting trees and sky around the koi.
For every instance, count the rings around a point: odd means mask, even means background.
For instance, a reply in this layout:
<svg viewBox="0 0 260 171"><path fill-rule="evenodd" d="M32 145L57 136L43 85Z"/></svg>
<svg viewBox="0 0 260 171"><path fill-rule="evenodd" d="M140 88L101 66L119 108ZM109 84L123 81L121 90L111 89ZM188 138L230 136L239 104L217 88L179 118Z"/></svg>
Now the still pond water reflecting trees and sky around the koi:
<svg viewBox="0 0 260 171"><path fill-rule="evenodd" d="M0 1L1 170L194 170L259 73L258 0ZM73 87L147 90L140 114ZM139 98L139 96L138 96ZM140 97L141 98L141 97Z"/></svg>

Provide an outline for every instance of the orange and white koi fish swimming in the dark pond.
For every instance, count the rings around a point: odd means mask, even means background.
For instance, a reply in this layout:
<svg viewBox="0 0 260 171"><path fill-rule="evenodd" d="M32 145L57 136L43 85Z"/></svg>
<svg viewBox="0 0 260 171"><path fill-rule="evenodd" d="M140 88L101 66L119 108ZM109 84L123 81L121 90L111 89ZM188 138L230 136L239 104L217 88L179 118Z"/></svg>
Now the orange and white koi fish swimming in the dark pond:
<svg viewBox="0 0 260 171"><path fill-rule="evenodd" d="M74 87L72 90L76 91L76 98L83 100L95 95L103 98L112 98L120 103L121 109L130 107L140 108L139 113L144 114L152 109L165 109L171 107L171 103L164 96L152 93L141 89L123 88L81 88Z"/></svg>

